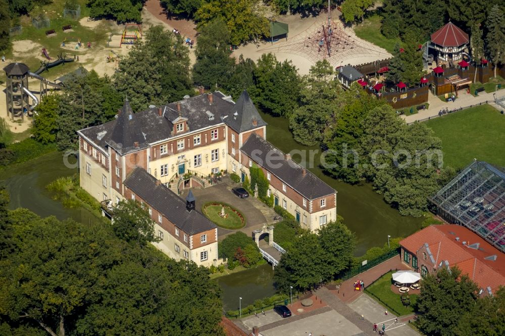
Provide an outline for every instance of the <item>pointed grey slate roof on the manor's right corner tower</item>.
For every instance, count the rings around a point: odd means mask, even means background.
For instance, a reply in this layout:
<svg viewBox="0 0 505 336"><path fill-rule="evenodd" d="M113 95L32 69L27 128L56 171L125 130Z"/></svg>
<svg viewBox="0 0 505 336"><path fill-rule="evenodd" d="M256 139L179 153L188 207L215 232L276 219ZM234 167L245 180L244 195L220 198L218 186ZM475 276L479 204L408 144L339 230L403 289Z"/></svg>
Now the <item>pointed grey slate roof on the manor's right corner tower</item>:
<svg viewBox="0 0 505 336"><path fill-rule="evenodd" d="M224 122L238 133L266 126L247 91L243 91Z"/></svg>

